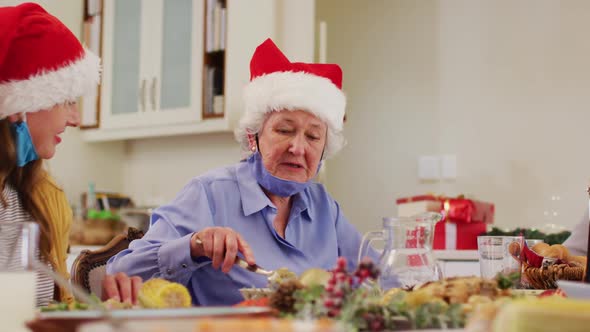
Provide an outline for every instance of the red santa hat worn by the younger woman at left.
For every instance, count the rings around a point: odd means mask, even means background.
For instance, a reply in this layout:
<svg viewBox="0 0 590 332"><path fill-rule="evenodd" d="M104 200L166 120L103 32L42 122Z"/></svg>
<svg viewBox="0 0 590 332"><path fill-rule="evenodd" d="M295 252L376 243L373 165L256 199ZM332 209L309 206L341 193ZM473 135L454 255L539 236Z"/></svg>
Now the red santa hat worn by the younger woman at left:
<svg viewBox="0 0 590 332"><path fill-rule="evenodd" d="M98 56L39 5L0 8L0 119L75 101L99 79Z"/></svg>

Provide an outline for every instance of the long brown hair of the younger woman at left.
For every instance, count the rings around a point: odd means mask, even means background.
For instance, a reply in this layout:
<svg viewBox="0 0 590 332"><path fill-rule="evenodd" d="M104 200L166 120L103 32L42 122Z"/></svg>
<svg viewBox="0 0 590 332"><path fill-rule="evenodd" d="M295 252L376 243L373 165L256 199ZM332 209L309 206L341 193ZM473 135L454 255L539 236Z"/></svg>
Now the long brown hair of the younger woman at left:
<svg viewBox="0 0 590 332"><path fill-rule="evenodd" d="M39 224L41 259L55 267L56 262L50 256L49 235L52 227L49 225L50 221L47 216L41 213L41 209L33 200L35 186L46 176L41 159L30 162L24 167L16 166L16 142L12 135L11 123L8 119L0 120L0 207L8 207L6 197L2 195L2 192L7 185L10 185L18 193L23 209Z"/></svg>

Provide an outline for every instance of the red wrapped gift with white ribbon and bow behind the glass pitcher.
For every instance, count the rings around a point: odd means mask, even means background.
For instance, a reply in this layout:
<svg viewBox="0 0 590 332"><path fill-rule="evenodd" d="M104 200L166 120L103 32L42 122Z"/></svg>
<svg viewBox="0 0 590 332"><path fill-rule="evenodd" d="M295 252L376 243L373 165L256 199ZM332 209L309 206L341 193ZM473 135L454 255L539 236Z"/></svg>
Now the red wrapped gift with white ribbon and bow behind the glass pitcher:
<svg viewBox="0 0 590 332"><path fill-rule="evenodd" d="M477 249L477 236L494 222L494 204L435 195L404 197L397 200L398 215L409 217L424 212L441 212L443 221L435 226L434 249Z"/></svg>

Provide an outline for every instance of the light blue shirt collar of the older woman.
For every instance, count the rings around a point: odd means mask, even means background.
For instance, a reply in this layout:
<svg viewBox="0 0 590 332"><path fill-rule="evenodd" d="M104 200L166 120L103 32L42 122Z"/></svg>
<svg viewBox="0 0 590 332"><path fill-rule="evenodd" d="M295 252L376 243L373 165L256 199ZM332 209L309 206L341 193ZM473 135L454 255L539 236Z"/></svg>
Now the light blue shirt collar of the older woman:
<svg viewBox="0 0 590 332"><path fill-rule="evenodd" d="M242 199L242 210L245 216L256 213L267 206L274 207L268 196L262 191L262 188L256 181L247 162L240 162L237 166L236 177L240 198ZM305 212L306 220L311 221L311 198L309 197L309 188L303 192L293 195L292 211L297 214Z"/></svg>

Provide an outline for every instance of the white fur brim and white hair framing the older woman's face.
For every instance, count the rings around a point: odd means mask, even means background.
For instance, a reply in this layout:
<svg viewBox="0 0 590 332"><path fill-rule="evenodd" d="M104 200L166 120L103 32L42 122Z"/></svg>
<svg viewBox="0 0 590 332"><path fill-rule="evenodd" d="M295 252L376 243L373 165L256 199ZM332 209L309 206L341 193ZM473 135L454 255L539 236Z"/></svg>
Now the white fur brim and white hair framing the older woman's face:
<svg viewBox="0 0 590 332"><path fill-rule="evenodd" d="M262 75L244 88L244 105L234 134L245 152L250 152L248 134L259 133L273 111L304 110L322 120L328 127L324 159L334 156L346 144L346 96L328 78L292 71Z"/></svg>

